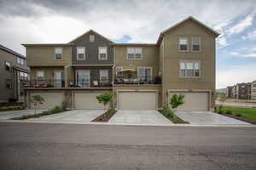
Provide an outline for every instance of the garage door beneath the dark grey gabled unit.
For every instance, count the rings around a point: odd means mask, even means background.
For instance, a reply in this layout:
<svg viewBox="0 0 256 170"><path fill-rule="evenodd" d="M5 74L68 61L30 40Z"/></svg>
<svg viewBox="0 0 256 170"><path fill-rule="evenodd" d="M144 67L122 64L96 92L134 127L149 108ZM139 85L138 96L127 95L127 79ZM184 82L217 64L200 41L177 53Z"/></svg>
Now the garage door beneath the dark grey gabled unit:
<svg viewBox="0 0 256 170"><path fill-rule="evenodd" d="M100 94L102 93L75 93L74 109L103 109L103 105L96 99Z"/></svg>

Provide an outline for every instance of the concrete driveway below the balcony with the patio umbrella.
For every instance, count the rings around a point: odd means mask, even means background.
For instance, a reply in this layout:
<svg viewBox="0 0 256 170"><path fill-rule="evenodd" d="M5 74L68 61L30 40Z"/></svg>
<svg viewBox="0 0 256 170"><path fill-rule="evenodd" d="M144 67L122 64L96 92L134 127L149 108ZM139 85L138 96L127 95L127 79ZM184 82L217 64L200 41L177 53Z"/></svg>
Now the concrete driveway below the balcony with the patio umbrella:
<svg viewBox="0 0 256 170"><path fill-rule="evenodd" d="M119 110L108 121L114 123L170 124L165 116L154 110Z"/></svg>

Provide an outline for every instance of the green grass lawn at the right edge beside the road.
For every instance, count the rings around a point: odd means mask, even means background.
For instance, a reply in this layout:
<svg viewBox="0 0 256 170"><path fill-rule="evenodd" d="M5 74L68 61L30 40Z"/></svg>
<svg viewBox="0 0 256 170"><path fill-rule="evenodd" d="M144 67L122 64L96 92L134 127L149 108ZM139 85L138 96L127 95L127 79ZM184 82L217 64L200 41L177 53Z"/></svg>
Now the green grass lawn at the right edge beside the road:
<svg viewBox="0 0 256 170"><path fill-rule="evenodd" d="M241 117L256 120L256 108L224 106L223 111L230 110L232 115L241 114Z"/></svg>

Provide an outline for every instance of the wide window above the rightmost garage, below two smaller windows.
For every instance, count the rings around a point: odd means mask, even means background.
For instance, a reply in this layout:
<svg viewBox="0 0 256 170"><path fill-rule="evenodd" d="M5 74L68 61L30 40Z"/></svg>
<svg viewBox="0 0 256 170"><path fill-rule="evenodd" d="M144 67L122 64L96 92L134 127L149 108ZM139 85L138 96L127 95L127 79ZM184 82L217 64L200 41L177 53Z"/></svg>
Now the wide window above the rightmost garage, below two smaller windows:
<svg viewBox="0 0 256 170"><path fill-rule="evenodd" d="M199 61L181 61L180 77L200 77Z"/></svg>

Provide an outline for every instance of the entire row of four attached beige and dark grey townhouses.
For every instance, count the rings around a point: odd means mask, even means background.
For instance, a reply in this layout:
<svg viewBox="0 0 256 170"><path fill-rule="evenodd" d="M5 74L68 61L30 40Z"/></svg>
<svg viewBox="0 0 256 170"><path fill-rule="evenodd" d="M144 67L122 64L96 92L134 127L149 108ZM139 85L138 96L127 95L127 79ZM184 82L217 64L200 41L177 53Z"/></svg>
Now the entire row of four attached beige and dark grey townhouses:
<svg viewBox="0 0 256 170"><path fill-rule="evenodd" d="M47 109L63 100L70 109L101 109L96 95L109 91L114 108L156 110L177 93L185 95L179 111L209 111L216 37L189 17L162 31L156 43L114 43L91 30L68 43L24 44L32 72L27 96L42 95Z"/></svg>

